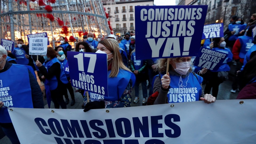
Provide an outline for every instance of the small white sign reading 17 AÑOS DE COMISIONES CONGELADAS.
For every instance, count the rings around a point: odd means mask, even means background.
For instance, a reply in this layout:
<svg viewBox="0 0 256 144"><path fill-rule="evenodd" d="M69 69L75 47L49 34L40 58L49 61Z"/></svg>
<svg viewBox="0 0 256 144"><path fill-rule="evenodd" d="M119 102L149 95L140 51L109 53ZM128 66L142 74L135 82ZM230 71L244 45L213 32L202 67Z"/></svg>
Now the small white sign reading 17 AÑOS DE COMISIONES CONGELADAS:
<svg viewBox="0 0 256 144"><path fill-rule="evenodd" d="M47 37L33 37L29 39L29 55L46 55Z"/></svg>

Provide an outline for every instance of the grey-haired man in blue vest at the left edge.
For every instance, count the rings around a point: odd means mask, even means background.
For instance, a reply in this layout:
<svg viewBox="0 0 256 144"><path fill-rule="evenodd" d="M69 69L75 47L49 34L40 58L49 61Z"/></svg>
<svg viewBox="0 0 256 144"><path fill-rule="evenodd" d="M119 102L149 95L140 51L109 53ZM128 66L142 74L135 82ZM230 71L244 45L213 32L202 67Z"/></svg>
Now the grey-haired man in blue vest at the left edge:
<svg viewBox="0 0 256 144"><path fill-rule="evenodd" d="M30 66L12 65L6 57L7 52L0 45L0 125L12 144L20 144L7 108L44 108L44 101Z"/></svg>

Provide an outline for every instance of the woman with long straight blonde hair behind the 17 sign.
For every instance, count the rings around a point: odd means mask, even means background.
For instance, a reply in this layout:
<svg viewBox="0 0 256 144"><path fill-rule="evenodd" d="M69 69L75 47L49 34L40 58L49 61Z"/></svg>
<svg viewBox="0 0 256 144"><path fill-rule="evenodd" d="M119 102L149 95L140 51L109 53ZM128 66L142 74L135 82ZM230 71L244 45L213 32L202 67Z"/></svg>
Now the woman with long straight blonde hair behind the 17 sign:
<svg viewBox="0 0 256 144"><path fill-rule="evenodd" d="M89 103L87 103L86 99L84 112L99 108L131 107L132 86L135 83L135 76L123 64L117 41L114 39L101 40L97 48L98 51L96 53L107 54L108 97L105 97L104 100L90 97Z"/></svg>

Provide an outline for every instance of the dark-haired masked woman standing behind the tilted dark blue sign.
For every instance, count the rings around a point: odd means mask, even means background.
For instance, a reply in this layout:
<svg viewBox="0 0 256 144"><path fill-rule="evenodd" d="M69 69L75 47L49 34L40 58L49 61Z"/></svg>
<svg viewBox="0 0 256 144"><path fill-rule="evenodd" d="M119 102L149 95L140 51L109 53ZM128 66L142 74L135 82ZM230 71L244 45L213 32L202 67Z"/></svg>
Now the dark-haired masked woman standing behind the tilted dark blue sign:
<svg viewBox="0 0 256 144"><path fill-rule="evenodd" d="M231 62L233 58L232 52L228 48L225 48L226 42L224 40L224 37L214 38L212 49L224 52L228 54L228 57L223 61L222 65L216 72L209 70L205 74L209 83L206 83L204 93L210 93L212 89L212 95L216 98L219 92L219 85L223 83L223 81L228 80L228 71L230 70L228 63Z"/></svg>

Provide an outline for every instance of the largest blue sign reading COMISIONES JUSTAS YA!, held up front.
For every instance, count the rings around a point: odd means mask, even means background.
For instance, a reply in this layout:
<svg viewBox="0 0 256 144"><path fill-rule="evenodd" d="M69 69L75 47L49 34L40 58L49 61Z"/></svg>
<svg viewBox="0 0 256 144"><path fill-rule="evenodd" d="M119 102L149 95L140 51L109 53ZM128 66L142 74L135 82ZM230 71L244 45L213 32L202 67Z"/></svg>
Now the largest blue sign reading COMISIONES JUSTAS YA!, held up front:
<svg viewBox="0 0 256 144"><path fill-rule="evenodd" d="M135 6L136 59L197 56L207 5Z"/></svg>

